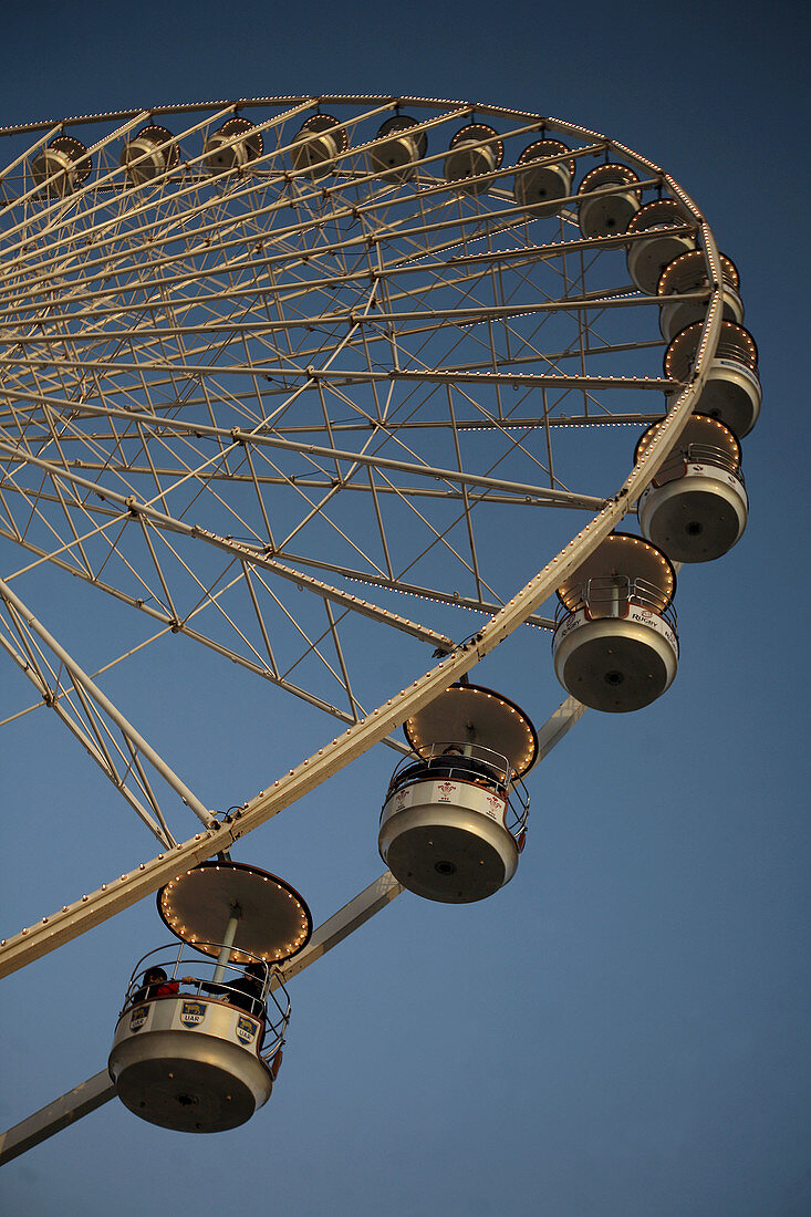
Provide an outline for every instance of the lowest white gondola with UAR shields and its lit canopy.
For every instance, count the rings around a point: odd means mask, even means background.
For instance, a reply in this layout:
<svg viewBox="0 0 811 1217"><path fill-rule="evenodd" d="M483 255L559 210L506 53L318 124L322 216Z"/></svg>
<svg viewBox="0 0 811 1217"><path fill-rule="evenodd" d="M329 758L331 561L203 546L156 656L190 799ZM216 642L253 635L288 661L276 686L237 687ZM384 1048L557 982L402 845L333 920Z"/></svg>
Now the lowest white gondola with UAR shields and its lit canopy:
<svg viewBox="0 0 811 1217"><path fill-rule="evenodd" d="M158 912L208 958L184 958L180 947L174 957L160 949L139 961L110 1076L124 1106L150 1123L192 1133L236 1128L270 1098L290 1017L278 965L309 940L309 909L275 875L209 862L167 884Z"/></svg>

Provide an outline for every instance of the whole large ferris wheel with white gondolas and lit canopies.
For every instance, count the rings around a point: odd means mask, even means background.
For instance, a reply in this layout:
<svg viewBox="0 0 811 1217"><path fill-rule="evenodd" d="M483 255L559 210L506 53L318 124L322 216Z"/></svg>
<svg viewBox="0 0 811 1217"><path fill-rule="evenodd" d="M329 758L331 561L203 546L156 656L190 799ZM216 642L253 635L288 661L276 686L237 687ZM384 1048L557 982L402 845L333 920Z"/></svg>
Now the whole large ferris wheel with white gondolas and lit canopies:
<svg viewBox="0 0 811 1217"><path fill-rule="evenodd" d="M466 902L510 880L526 774L586 707L667 689L677 566L743 533L756 347L692 198L571 123L267 97L0 141L0 646L32 686L0 720L50 710L157 842L11 930L0 974L158 892L184 943L219 943L203 1017L223 969L255 959L279 993L403 887ZM44 571L127 622L93 672L39 595ZM468 679L510 635L563 685L535 725L509 689ZM104 691L105 672L169 643L319 712L311 753L211 809ZM401 753L381 791L390 871L311 940L297 893L229 851L379 744ZM208 894L180 925L167 893L198 875ZM267 941L247 932L265 884L297 910ZM128 1019L134 994L150 1004L135 980ZM135 1022L117 1032L129 1064Z"/></svg>

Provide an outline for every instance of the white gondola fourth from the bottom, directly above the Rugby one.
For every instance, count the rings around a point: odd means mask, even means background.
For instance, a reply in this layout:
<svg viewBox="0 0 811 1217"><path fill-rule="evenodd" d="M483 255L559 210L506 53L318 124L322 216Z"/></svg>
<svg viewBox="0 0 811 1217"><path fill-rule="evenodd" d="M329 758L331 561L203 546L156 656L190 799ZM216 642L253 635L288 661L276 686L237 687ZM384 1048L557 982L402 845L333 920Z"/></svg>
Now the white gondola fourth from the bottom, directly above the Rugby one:
<svg viewBox="0 0 811 1217"><path fill-rule="evenodd" d="M644 432L644 455L661 422ZM728 427L693 414L676 447L639 499L639 527L673 562L710 562L740 539L749 500L740 472L740 444Z"/></svg>

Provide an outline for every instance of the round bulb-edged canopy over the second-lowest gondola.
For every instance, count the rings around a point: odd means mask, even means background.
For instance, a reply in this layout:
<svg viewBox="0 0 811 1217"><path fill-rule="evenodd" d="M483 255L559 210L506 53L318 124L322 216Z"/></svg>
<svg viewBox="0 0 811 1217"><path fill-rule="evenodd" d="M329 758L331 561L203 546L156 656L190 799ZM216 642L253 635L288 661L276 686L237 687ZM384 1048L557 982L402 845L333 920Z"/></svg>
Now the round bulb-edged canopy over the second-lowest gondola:
<svg viewBox="0 0 811 1217"><path fill-rule="evenodd" d="M435 744L465 742L476 729L476 744L500 752L522 778L538 755L535 727L520 706L500 692L463 682L452 684L403 723L414 751L427 759Z"/></svg>

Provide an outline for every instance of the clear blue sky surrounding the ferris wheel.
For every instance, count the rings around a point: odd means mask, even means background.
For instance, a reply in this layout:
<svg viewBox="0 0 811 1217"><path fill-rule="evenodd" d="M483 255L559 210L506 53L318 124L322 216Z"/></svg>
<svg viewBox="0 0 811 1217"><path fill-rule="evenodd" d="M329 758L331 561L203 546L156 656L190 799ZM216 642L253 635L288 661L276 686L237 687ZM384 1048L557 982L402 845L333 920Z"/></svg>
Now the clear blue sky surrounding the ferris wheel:
<svg viewBox="0 0 811 1217"><path fill-rule="evenodd" d="M284 1071L245 1128L184 1137L108 1104L4 1170L9 1212L206 1213L235 1196L301 1217L807 1212L807 33L781 2L767 21L726 2L226 13L208 0L5 18L2 123L380 91L616 138L673 174L734 259L764 383L744 444L749 527L679 578L673 688L634 716L587 713L538 767L515 880L460 908L407 893L293 981ZM90 638L77 589L41 581L32 602L51 628L66 616L80 662L118 629L105 604ZM547 644L521 645L474 679L542 720L560 700ZM304 755L298 720L230 666L173 657L183 695L163 701L163 660L112 677L111 694L211 806ZM153 852L45 718L2 741L10 932ZM362 758L239 858L324 920L380 873L391 764ZM4 981L2 1127L104 1067L130 968L162 931L147 899Z"/></svg>

